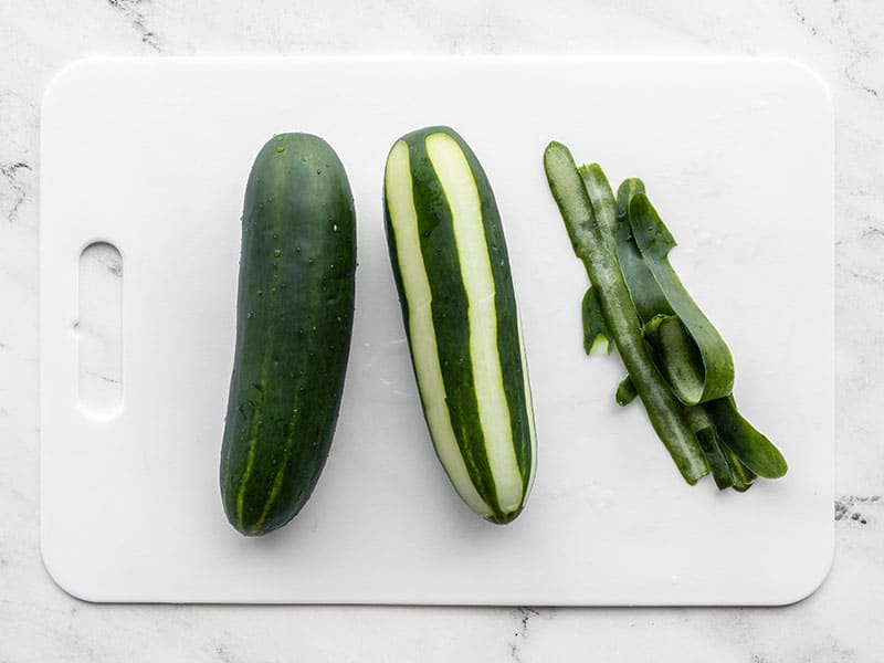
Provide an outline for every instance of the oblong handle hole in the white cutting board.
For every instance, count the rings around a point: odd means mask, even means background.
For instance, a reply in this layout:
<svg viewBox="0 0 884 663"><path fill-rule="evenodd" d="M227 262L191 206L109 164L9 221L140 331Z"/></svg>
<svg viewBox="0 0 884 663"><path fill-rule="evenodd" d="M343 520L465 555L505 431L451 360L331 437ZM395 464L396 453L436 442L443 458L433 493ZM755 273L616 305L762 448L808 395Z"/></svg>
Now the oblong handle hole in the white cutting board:
<svg viewBox="0 0 884 663"><path fill-rule="evenodd" d="M123 406L123 255L109 242L80 254L77 344L80 408L109 419Z"/></svg>

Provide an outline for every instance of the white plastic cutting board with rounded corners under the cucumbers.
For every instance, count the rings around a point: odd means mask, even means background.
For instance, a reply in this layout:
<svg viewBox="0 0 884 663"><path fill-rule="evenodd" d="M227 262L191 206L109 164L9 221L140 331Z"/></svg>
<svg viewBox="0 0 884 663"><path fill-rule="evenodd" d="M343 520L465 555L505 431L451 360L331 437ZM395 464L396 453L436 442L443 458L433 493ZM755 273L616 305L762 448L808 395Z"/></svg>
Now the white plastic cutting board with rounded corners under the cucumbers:
<svg viewBox="0 0 884 663"><path fill-rule="evenodd" d="M401 134L449 124L482 160L507 233L539 465L506 527L461 504L422 420L381 219ZM304 511L246 539L218 461L243 189L274 133L326 138L358 214L356 323L332 454ZM832 558L833 112L782 61L93 60L41 128L42 549L94 601L772 604ZM736 358L743 412L788 476L690 487L617 357L586 358L587 284L549 196L550 139L644 179L672 261ZM78 402L78 256L123 256L119 408ZM91 294L94 298L94 294ZM113 317L113 316L112 316ZM114 378L108 378L114 379Z"/></svg>

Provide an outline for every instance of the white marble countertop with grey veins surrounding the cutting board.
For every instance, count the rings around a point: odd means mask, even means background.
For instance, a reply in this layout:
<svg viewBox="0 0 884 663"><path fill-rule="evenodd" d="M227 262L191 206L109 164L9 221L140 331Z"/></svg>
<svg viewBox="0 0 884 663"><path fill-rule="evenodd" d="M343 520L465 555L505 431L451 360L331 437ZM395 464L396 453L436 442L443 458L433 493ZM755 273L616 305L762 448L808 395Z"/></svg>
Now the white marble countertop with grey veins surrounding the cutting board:
<svg viewBox="0 0 884 663"><path fill-rule="evenodd" d="M0 661L875 661L884 651L884 49L862 0L683 3L0 0ZM39 109L85 55L782 55L836 112L836 551L787 608L101 606L40 559ZM813 324L813 312L808 312Z"/></svg>

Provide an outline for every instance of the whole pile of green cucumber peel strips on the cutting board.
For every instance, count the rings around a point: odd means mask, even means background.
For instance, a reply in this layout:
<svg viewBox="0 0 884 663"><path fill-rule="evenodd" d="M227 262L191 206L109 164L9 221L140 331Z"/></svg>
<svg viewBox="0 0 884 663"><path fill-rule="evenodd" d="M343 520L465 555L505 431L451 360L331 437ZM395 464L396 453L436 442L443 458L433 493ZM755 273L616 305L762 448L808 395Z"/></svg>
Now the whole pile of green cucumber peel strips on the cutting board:
<svg viewBox="0 0 884 663"><path fill-rule="evenodd" d="M597 164L578 168L555 141L544 168L589 275L585 350L615 348L628 371L617 402L644 403L688 484L712 474L719 490L745 492L759 476L783 476L786 459L737 410L730 350L670 264L675 240L641 180L614 196Z"/></svg>

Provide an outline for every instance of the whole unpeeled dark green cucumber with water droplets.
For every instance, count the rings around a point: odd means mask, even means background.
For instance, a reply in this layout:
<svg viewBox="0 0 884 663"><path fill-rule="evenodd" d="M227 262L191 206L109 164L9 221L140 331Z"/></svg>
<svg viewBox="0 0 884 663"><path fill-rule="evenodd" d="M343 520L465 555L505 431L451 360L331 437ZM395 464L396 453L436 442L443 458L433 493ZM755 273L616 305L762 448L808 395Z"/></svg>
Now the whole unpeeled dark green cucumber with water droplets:
<svg viewBox="0 0 884 663"><path fill-rule="evenodd" d="M224 512L246 536L288 523L323 471L349 355L355 273L344 166L317 136L275 136L245 189L221 450Z"/></svg>

